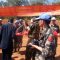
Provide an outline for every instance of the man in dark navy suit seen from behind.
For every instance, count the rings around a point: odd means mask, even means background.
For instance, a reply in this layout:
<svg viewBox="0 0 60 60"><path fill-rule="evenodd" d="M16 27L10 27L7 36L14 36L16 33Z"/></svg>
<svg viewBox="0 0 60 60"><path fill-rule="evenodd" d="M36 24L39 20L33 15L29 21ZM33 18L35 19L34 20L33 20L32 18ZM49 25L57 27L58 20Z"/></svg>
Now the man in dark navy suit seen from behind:
<svg viewBox="0 0 60 60"><path fill-rule="evenodd" d="M2 26L2 60L12 60L13 51L13 19Z"/></svg>

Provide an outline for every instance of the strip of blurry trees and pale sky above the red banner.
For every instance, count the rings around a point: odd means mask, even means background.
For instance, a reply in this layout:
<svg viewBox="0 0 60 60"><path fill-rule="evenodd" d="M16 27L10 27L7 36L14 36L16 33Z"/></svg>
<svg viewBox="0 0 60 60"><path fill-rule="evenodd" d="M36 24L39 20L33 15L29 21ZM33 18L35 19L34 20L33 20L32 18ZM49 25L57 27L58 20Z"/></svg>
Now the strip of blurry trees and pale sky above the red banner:
<svg viewBox="0 0 60 60"><path fill-rule="evenodd" d="M0 6L25 6L44 4L60 4L60 0L0 0Z"/></svg>

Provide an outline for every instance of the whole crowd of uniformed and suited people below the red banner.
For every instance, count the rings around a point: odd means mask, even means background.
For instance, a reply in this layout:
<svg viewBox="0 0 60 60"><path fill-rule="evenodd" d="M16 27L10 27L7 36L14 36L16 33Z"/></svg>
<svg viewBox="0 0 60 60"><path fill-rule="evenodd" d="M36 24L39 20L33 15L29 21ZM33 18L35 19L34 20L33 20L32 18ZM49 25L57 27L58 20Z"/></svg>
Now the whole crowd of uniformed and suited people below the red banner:
<svg viewBox="0 0 60 60"><path fill-rule="evenodd" d="M23 35L28 36L25 60L55 60L57 38L60 36L56 17L47 13L32 18L30 24L23 19L0 19L0 44L2 60L12 60L12 53L20 51ZM27 31L24 33L24 31Z"/></svg>

